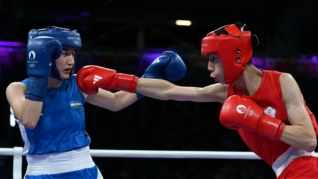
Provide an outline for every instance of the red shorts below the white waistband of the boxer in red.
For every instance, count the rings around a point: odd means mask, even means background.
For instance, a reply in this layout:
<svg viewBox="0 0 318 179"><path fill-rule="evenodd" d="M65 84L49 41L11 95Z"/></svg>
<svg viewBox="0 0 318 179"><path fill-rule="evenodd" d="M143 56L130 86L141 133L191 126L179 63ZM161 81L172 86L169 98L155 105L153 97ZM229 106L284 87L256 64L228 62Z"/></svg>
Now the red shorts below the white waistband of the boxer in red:
<svg viewBox="0 0 318 179"><path fill-rule="evenodd" d="M318 157L301 156L294 159L277 179L313 179L318 178Z"/></svg>

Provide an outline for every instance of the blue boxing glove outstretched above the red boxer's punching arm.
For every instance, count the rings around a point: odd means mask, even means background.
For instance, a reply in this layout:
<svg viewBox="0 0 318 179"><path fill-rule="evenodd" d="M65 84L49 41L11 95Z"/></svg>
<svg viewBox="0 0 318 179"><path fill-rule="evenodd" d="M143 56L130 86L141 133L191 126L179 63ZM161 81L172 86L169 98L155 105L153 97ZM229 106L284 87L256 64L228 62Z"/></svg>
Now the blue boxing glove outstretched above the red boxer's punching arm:
<svg viewBox="0 0 318 179"><path fill-rule="evenodd" d="M180 56L172 51L165 51L162 56L156 58L146 69L140 78L155 78L163 80L180 80L187 69ZM137 93L138 99L144 95Z"/></svg>

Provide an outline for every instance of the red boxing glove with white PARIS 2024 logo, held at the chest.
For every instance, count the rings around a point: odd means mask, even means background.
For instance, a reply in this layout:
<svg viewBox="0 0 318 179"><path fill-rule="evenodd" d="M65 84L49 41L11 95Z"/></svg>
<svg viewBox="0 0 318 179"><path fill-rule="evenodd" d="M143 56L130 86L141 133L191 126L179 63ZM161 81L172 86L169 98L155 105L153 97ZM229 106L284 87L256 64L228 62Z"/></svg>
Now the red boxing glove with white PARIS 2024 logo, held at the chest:
<svg viewBox="0 0 318 179"><path fill-rule="evenodd" d="M225 100L220 122L227 128L244 128L271 139L279 140L285 127L280 119L264 113L264 110L253 100L234 95Z"/></svg>

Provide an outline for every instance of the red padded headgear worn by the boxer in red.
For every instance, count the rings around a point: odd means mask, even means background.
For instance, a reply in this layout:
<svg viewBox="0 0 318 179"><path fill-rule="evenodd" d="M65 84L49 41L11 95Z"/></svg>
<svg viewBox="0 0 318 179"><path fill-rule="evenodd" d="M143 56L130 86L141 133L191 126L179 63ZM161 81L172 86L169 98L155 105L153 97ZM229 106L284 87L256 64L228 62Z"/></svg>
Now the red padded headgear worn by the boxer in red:
<svg viewBox="0 0 318 179"><path fill-rule="evenodd" d="M229 34L220 34L218 36L216 33L220 29L224 29ZM201 54L217 53L219 55L224 69L223 81L228 83L239 79L245 65L252 58L252 48L251 32L240 31L232 24L208 33L202 39ZM238 50L241 54L237 54ZM238 62L236 58L239 58Z"/></svg>

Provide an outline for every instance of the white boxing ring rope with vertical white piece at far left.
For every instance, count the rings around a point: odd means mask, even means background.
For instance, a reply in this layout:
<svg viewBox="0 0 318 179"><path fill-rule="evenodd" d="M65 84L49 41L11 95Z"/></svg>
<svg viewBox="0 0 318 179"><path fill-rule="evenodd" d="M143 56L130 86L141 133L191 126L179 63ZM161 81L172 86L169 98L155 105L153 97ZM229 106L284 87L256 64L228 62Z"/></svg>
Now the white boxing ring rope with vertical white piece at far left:
<svg viewBox="0 0 318 179"><path fill-rule="evenodd" d="M92 157L125 158L193 158L193 159L260 159L253 152L166 151L166 150L97 150ZM316 153L318 155L318 153ZM13 179L22 178L22 147L0 148L0 155L13 155Z"/></svg>

